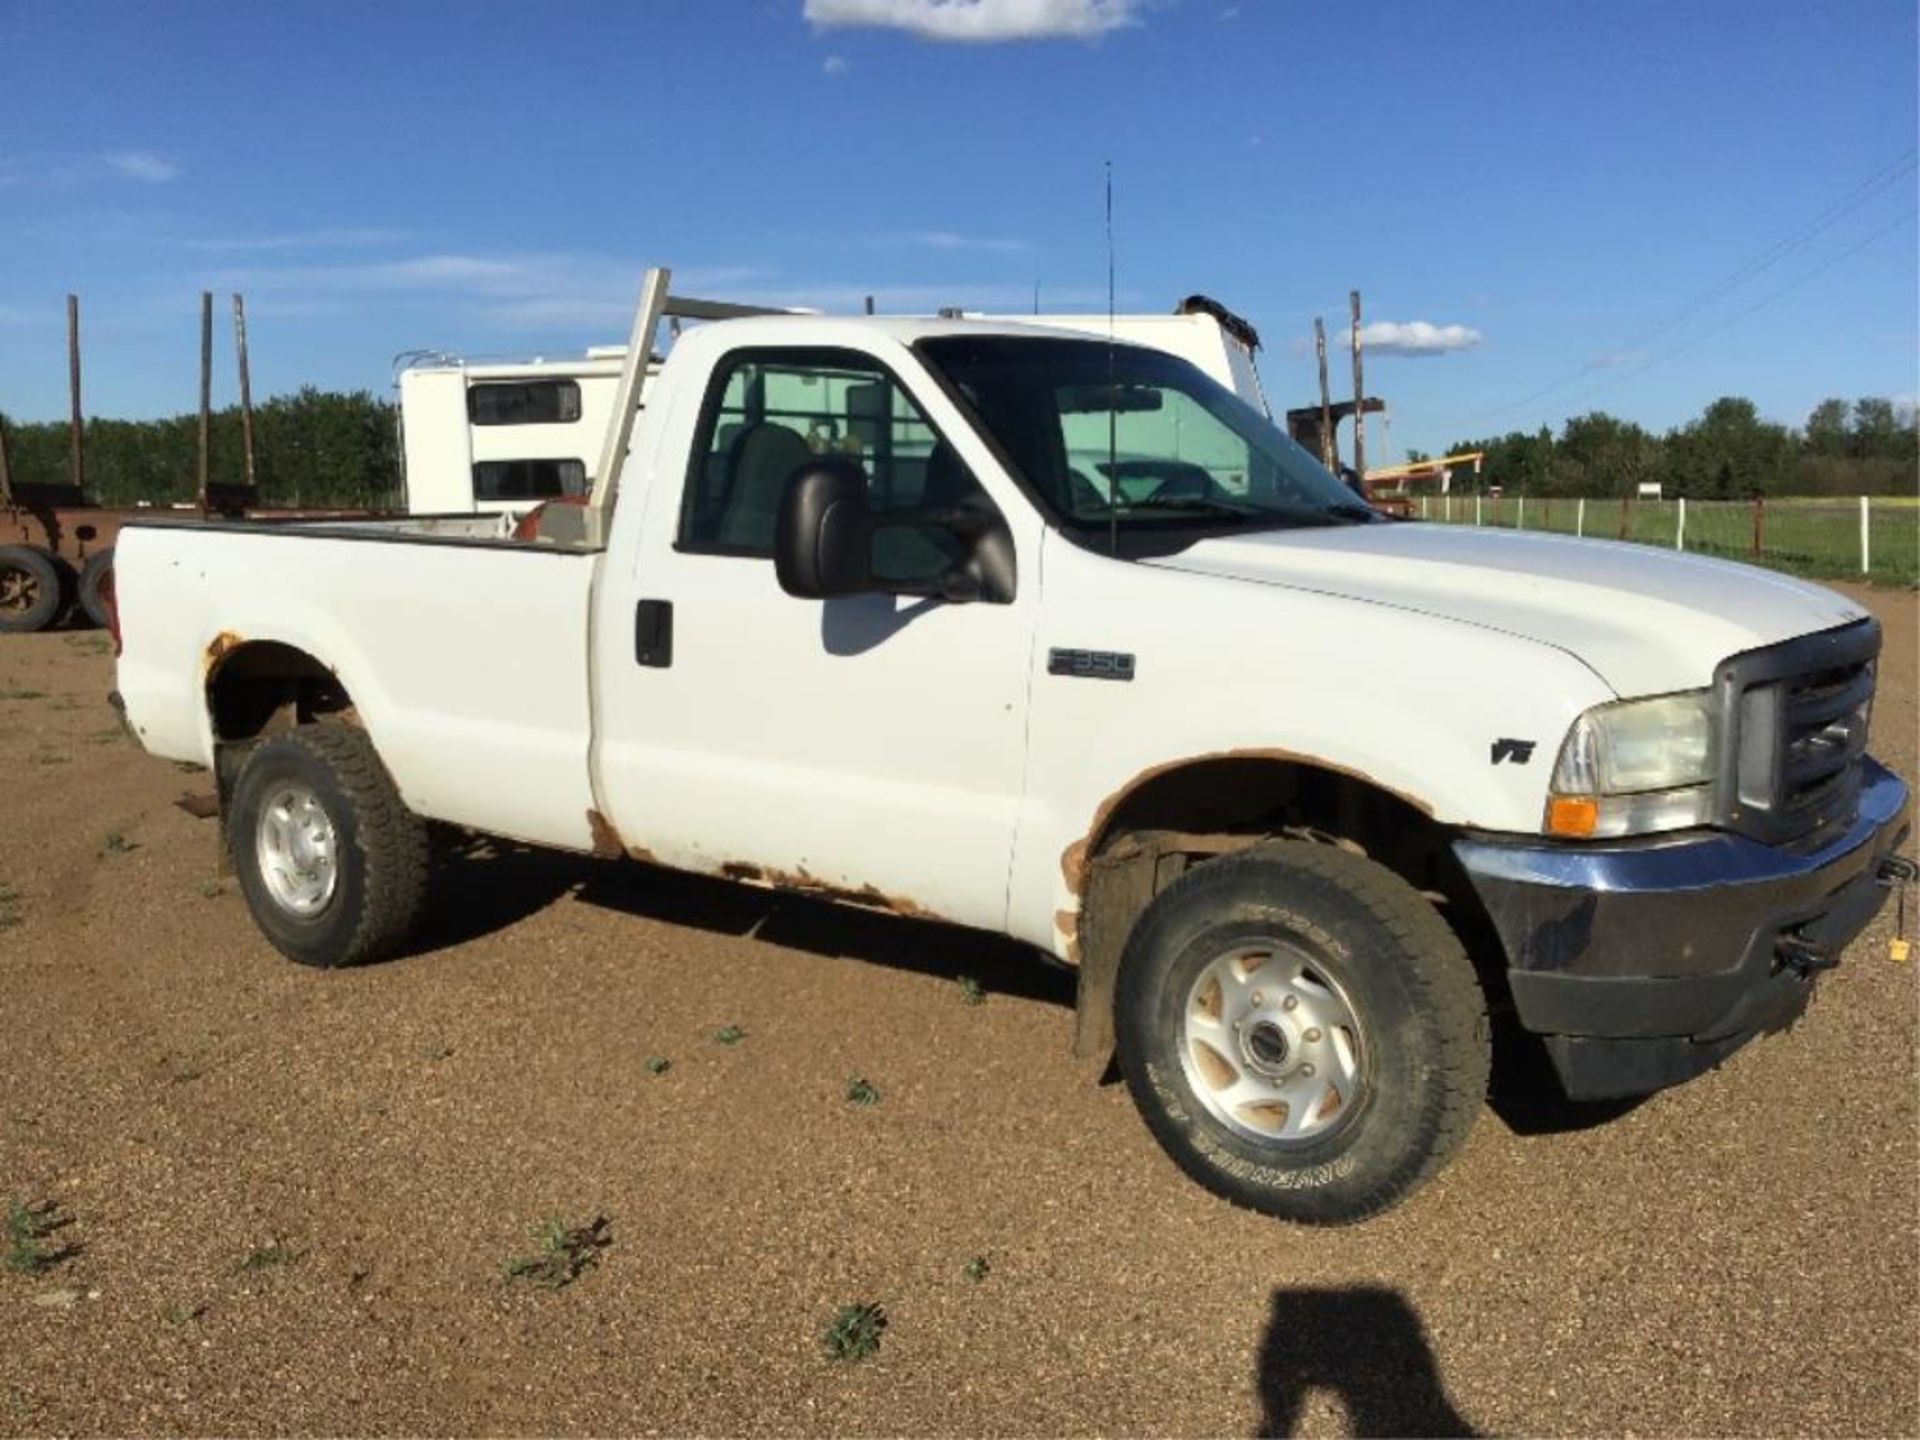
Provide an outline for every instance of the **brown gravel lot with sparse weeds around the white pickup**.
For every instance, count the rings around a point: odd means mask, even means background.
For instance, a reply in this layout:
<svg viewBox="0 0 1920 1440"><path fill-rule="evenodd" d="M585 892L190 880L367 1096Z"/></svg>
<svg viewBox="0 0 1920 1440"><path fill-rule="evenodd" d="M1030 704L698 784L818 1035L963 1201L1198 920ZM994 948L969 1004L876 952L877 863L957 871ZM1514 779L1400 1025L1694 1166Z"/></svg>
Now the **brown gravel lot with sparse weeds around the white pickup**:
<svg viewBox="0 0 1920 1440"><path fill-rule="evenodd" d="M1916 599L1870 603L1914 776ZM1185 1183L993 939L474 851L426 952L300 970L109 684L0 641L0 1200L79 1246L0 1271L0 1432L1920 1432L1891 914L1791 1035L1607 1117L1509 1073L1304 1231ZM599 1265L505 1283L553 1213ZM835 1365L849 1302L891 1325Z"/></svg>

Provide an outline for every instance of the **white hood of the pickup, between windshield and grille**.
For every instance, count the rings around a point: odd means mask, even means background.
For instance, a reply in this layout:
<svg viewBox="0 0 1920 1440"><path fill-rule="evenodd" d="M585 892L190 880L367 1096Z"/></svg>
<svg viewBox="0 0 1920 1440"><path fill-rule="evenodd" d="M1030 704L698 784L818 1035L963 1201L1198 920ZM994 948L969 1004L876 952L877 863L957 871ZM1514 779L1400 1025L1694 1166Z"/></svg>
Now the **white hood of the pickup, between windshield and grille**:
<svg viewBox="0 0 1920 1440"><path fill-rule="evenodd" d="M1728 655L1866 614L1832 589L1747 564L1450 524L1265 530L1146 564L1503 630L1569 651L1622 697L1695 689Z"/></svg>

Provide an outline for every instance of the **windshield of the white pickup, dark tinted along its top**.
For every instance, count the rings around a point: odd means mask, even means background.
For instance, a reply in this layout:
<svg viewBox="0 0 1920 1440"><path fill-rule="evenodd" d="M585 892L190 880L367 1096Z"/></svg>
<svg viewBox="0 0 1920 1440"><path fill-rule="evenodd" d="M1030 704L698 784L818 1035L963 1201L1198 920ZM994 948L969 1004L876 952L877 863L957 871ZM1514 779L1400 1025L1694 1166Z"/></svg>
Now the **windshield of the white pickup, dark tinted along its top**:
<svg viewBox="0 0 1920 1440"><path fill-rule="evenodd" d="M1260 411L1164 351L1016 336L945 336L920 351L1064 526L1379 518Z"/></svg>

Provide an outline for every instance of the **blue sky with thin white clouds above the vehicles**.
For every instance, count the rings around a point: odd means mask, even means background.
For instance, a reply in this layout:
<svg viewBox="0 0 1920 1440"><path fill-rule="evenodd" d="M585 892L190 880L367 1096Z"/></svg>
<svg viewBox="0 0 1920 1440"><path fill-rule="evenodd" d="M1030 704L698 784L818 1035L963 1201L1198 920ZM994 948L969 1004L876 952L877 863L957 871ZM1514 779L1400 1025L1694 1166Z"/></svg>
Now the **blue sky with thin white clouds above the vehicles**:
<svg viewBox="0 0 1920 1440"><path fill-rule="evenodd" d="M1394 451L1920 390L1910 0L0 0L0 58L21 419L65 413L69 290L115 417L192 409L204 288L217 399L232 290L255 394L620 340L655 261L1098 307L1108 159L1121 307L1217 296L1308 403L1357 286Z"/></svg>

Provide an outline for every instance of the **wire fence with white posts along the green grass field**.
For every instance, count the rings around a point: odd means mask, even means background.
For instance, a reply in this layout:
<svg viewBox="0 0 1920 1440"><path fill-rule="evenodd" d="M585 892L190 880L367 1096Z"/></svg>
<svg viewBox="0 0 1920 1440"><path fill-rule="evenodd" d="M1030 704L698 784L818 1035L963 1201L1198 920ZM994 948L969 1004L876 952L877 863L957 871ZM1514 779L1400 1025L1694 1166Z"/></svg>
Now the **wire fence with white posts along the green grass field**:
<svg viewBox="0 0 1920 1440"><path fill-rule="evenodd" d="M1908 499L1553 499L1421 495L1413 515L1448 524L1549 530L1718 555L1828 580L1920 586L1920 503Z"/></svg>

